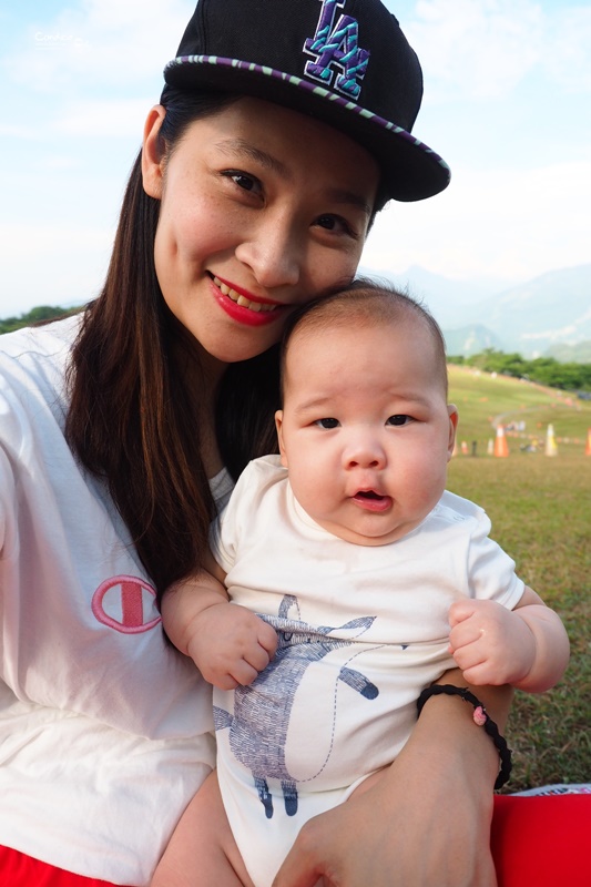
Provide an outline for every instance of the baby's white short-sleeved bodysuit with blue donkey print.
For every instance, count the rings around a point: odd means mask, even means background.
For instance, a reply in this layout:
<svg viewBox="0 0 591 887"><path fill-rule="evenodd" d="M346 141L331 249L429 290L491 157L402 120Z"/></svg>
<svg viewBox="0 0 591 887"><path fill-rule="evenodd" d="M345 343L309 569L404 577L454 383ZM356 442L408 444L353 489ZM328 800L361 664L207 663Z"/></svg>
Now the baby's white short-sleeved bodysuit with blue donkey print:
<svg viewBox="0 0 591 887"><path fill-rule="evenodd" d="M420 691L454 667L450 604L521 599L489 530L481 508L445 492L403 539L355 546L300 508L278 457L243 472L214 554L231 600L262 614L278 648L249 686L214 690L214 714L220 786L256 887L304 822L397 756Z"/></svg>

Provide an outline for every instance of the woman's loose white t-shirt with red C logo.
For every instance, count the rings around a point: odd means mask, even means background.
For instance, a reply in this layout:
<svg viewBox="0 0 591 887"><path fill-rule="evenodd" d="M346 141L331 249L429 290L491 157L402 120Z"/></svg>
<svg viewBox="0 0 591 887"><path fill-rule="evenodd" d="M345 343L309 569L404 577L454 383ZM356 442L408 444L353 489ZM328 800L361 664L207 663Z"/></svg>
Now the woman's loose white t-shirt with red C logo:
<svg viewBox="0 0 591 887"><path fill-rule="evenodd" d="M63 438L78 324L0 338L0 844L143 886L213 764L211 691Z"/></svg>

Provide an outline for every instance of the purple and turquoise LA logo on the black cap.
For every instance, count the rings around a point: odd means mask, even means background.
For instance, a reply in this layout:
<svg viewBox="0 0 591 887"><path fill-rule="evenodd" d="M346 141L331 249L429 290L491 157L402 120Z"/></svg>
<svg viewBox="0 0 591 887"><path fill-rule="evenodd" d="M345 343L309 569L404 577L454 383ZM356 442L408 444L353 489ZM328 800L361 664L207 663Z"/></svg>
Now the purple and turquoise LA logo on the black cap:
<svg viewBox="0 0 591 887"><path fill-rule="evenodd" d="M336 64L343 73L337 73L334 89L357 100L361 92L358 81L367 71L369 52L359 48L359 27L351 16L340 16L335 24L337 7L343 9L345 0L319 0L323 4L316 33L307 38L304 52L315 55L315 62L306 62L305 72L324 86L333 86Z"/></svg>

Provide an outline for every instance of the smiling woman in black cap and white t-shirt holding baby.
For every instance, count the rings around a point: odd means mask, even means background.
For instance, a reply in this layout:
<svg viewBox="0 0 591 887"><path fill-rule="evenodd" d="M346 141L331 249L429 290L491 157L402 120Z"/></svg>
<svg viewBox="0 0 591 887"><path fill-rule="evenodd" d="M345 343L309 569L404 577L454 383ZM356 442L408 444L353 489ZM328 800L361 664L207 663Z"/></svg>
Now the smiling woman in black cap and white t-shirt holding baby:
<svg viewBox="0 0 591 887"><path fill-rule="evenodd" d="M101 296L2 341L10 885L150 881L213 764L208 693L157 597L272 448L291 308L350 281L386 200L448 182L408 134L420 68L378 0L201 0L179 57ZM480 696L502 724L507 694ZM466 708L430 700L379 789L310 823L277 884L492 885L499 758Z"/></svg>

